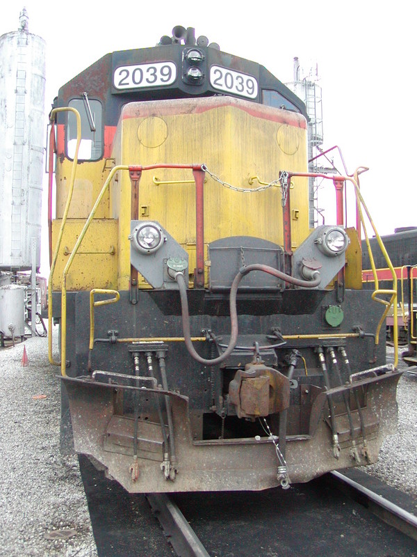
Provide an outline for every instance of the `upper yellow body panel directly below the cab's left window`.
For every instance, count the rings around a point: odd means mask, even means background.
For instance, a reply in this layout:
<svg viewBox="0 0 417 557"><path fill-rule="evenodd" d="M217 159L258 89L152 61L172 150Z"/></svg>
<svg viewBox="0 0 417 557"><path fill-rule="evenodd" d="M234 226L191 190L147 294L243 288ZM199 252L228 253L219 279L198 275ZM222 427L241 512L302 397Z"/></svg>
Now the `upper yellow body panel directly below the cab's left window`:
<svg viewBox="0 0 417 557"><path fill-rule="evenodd" d="M72 161L64 159L56 165L56 217L63 216L68 196ZM81 162L76 168L74 192L68 218L86 219L92 210L101 186L106 181L110 168L104 171L104 161ZM109 195L104 196L97 210L97 219L109 217Z"/></svg>

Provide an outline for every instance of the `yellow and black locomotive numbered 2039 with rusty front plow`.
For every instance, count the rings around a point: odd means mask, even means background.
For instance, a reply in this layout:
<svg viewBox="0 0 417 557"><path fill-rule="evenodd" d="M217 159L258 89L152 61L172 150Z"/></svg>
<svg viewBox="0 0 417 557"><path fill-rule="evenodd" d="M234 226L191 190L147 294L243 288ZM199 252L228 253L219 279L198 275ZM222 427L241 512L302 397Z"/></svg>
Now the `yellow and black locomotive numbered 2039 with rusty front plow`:
<svg viewBox="0 0 417 557"><path fill-rule="evenodd" d="M363 169L324 176L336 223L309 228L303 102L179 26L83 70L50 119L63 447L129 492L375 462L397 416L379 335L394 295L362 288Z"/></svg>

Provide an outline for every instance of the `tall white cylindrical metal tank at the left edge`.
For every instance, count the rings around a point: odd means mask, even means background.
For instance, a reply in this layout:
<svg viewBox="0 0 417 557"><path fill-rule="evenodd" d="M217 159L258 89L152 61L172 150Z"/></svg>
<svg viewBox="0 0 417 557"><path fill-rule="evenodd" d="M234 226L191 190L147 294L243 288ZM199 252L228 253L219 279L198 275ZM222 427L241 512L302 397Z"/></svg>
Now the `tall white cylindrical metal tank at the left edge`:
<svg viewBox="0 0 417 557"><path fill-rule="evenodd" d="M0 37L0 269L40 267L45 42L19 29Z"/></svg>

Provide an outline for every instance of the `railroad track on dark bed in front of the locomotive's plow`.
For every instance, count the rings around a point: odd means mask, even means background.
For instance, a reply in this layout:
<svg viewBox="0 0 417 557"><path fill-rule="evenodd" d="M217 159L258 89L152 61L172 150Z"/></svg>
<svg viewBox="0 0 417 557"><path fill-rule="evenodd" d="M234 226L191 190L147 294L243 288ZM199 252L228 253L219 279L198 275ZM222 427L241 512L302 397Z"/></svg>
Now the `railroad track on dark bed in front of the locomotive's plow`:
<svg viewBox="0 0 417 557"><path fill-rule="evenodd" d="M332 473L287 491L145 499L127 494L91 464L81 471L99 557L417 557L417 519L407 512L416 501L382 483L363 489ZM398 504L373 490L385 490Z"/></svg>

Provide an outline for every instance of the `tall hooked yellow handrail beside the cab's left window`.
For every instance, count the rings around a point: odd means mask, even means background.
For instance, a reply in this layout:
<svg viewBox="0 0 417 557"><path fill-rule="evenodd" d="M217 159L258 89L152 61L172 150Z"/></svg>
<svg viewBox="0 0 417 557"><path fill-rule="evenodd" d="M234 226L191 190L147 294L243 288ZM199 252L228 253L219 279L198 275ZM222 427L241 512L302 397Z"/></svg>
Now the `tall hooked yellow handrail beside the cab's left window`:
<svg viewBox="0 0 417 557"><path fill-rule="evenodd" d="M75 175L76 175L76 165L78 162L78 154L79 154L79 146L81 143L81 116L78 110L72 107L62 107L59 109L53 109L49 115L49 120L52 125L54 125L54 117L58 112L73 112L76 117L76 146L75 146L75 153L74 153L74 160L72 162L72 170L71 170L71 177L70 177L70 188L68 191L67 203L65 204L65 210L63 214L63 219L61 221L58 240L56 241L54 257L52 258L51 263L51 270L49 271L49 282L48 282L48 358L49 363L53 366L61 366L61 362L54 360L54 356L52 355L52 282L54 280L54 272L56 266L56 260L58 259L58 253L60 249L60 244L63 239L63 232L65 223L67 222L68 212L70 210L70 204L72 200L72 192L74 191L74 182L75 182ZM65 361L65 359L64 359Z"/></svg>

